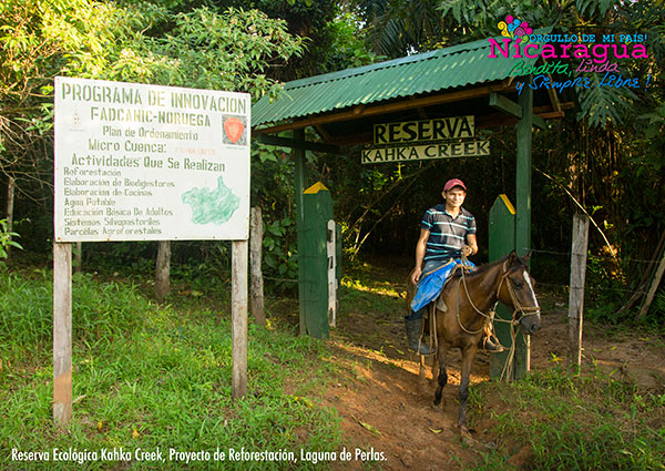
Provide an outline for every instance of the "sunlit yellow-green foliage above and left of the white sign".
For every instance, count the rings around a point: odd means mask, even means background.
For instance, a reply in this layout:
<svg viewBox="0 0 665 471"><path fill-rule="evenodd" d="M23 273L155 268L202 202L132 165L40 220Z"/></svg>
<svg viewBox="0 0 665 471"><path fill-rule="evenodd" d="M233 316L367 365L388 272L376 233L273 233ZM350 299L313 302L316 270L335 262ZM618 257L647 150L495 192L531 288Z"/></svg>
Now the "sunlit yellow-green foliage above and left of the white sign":
<svg viewBox="0 0 665 471"><path fill-rule="evenodd" d="M303 52L303 40L283 20L258 10L173 13L92 0L42 3L3 2L0 17L0 172L14 175L19 192L40 202L52 197L55 75L262 96L279 89L266 73ZM158 37L151 35L154 29Z"/></svg>

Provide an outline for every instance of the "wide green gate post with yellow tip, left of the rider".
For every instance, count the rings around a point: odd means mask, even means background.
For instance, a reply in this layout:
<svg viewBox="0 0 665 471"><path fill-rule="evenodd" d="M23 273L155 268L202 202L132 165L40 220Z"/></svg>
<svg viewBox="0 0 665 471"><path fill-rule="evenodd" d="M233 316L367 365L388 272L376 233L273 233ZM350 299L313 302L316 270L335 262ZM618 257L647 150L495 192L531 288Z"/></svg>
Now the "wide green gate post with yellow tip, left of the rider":
<svg viewBox="0 0 665 471"><path fill-rule="evenodd" d="M306 334L328 338L328 221L332 218L330 192L319 182L303 195L305 223L298 266L305 273L303 299Z"/></svg>

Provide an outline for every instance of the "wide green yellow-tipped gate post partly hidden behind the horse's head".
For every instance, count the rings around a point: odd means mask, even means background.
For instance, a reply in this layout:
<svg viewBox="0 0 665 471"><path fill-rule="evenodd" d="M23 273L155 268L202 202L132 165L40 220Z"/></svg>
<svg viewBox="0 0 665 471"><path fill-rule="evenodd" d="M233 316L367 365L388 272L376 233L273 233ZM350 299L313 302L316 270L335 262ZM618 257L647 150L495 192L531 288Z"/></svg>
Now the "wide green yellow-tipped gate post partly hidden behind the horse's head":
<svg viewBox="0 0 665 471"><path fill-rule="evenodd" d="M490 263L505 257L515 247L515 208L505 195L499 195L490 209L489 246ZM511 319L512 313L500 303L497 306L497 317ZM505 322L494 322L494 330L501 345L509 348L512 342L510 326ZM490 355L491 379L501 378L508 357L508 350Z"/></svg>

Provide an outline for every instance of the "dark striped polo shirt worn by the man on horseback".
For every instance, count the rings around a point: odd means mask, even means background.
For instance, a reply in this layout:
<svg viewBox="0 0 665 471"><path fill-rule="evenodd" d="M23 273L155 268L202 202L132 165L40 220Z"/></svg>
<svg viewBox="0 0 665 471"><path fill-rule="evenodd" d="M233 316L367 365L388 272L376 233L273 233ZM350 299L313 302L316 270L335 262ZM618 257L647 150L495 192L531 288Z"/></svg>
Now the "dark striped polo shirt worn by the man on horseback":
<svg viewBox="0 0 665 471"><path fill-rule="evenodd" d="M461 256L467 234L475 234L475 218L463 207L453 218L446 212L446 204L438 204L424 213L421 227L430 232L424 262L448 260Z"/></svg>

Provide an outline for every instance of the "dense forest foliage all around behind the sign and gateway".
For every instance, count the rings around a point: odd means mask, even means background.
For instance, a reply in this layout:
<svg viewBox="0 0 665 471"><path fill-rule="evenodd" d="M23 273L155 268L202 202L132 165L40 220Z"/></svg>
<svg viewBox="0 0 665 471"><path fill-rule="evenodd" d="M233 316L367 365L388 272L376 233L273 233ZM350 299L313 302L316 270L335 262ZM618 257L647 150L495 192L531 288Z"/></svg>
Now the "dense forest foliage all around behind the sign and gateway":
<svg viewBox="0 0 665 471"><path fill-rule="evenodd" d="M561 33L646 35L649 58L621 61L620 70L642 84L648 76L649 86L565 92L561 100L573 107L549 130L536 131L533 141L536 278L541 286L565 289L571 219L582 207L597 226L590 240L587 300L594 303L587 306L601 307L598 319L632 319L636 305L620 308L648 287L665 231L664 9L663 2L618 0L6 1L0 6L0 173L17 178L14 231L27 255L43 260L52 234L51 83L57 74L259 96L278 91L276 79L497 35L497 21L510 13ZM355 147L342 156L308 153L309 183L321 180L331 190L346 254L411 256L420 216L439 202L441 183L458 176L469 185L467 207L479 221L475 262L484 262L489 208L498 194L514 202L515 193L514 130L488 135L489 158L368 167L359 164ZM311 132L308 139L319 136ZM266 224L268 288L294 288L294 165L283 150L260 145L253 146L252 158L252 202L263 208ZM92 268L115 264L147 270L154 253L153 244L95 244L84 249L84 262ZM183 270L224 276L228 259L224 244L174 245L175 266L188 265ZM663 299L661 290L642 320L662 324Z"/></svg>

